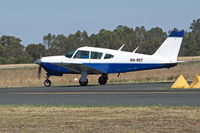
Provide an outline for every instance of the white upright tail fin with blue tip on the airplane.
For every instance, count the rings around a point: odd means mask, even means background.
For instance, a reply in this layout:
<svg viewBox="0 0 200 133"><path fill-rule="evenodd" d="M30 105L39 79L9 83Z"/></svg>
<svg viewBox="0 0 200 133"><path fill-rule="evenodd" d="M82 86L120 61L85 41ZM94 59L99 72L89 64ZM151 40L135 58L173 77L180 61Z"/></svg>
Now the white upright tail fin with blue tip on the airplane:
<svg viewBox="0 0 200 133"><path fill-rule="evenodd" d="M172 31L169 37L162 43L154 56L165 57L171 61L177 61L177 56L183 40L184 31Z"/></svg>

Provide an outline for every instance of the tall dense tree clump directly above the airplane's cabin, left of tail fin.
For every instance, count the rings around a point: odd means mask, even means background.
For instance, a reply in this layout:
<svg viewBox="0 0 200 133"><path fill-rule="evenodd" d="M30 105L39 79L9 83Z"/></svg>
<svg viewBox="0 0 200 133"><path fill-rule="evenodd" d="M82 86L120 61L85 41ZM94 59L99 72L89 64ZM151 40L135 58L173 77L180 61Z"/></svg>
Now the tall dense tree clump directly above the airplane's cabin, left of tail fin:
<svg viewBox="0 0 200 133"><path fill-rule="evenodd" d="M81 46L118 49L122 44L126 44L124 47L126 51L133 51L139 46L141 53L152 54L165 38L166 33L159 27L147 31L144 26L133 29L119 25L113 31L101 29L98 34L91 36L88 36L85 31L77 31L66 37L49 33L44 36L44 43L49 47L47 55L65 54L66 51Z"/></svg>

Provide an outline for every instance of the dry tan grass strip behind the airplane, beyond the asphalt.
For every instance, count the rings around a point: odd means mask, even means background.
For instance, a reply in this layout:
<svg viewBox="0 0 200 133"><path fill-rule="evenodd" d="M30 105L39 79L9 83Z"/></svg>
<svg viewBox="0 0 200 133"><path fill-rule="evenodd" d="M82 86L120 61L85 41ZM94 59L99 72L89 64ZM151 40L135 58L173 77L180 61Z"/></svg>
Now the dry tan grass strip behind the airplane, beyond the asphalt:
<svg viewBox="0 0 200 133"><path fill-rule="evenodd" d="M185 57L186 58L186 57ZM188 58L184 60L189 60ZM198 60L200 57L191 57L191 60ZM168 82L175 81L179 75L183 75L188 81L193 81L195 76L200 74L200 63L182 63L170 69L155 69L110 74L108 84L113 83L141 83L141 82ZM43 86L45 72L42 71L41 79L37 78L38 66L35 64L23 65L1 65L0 66L0 87L33 87ZM89 84L98 84L99 75L89 75ZM53 86L79 85L80 75L66 74L62 77L50 77Z"/></svg>

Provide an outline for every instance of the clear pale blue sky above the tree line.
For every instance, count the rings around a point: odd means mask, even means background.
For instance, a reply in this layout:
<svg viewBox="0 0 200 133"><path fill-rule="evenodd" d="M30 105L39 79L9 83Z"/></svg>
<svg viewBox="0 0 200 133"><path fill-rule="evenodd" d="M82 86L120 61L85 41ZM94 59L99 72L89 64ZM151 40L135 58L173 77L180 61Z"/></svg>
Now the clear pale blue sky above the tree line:
<svg viewBox="0 0 200 133"><path fill-rule="evenodd" d="M200 18L200 0L0 0L0 36L19 37L23 45L43 36L97 34L118 25L189 30Z"/></svg>

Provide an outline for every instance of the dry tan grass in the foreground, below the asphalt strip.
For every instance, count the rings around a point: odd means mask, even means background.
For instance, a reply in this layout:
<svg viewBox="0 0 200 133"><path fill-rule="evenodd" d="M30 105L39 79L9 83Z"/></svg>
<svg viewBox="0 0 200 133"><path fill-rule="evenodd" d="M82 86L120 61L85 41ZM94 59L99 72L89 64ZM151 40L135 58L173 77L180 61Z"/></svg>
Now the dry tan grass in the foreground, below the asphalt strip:
<svg viewBox="0 0 200 133"><path fill-rule="evenodd" d="M197 107L0 106L0 132L199 131Z"/></svg>

